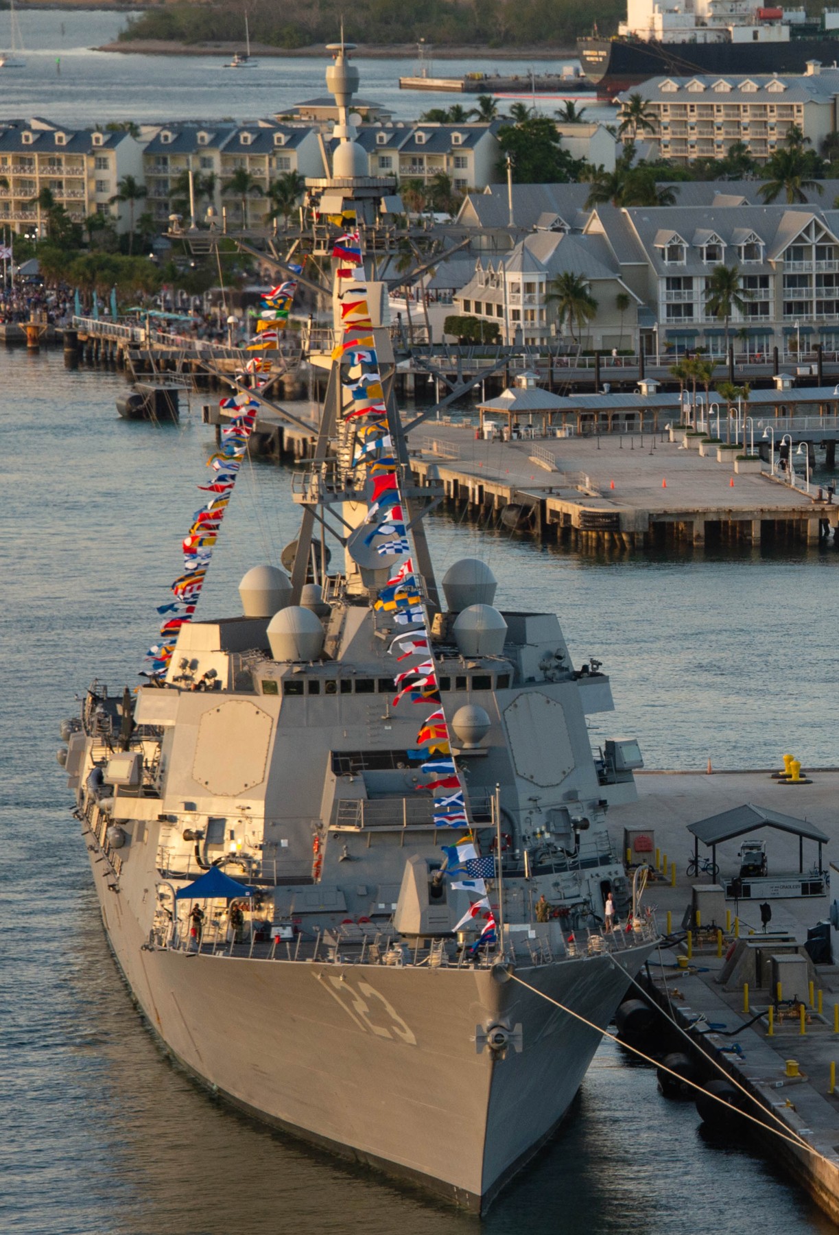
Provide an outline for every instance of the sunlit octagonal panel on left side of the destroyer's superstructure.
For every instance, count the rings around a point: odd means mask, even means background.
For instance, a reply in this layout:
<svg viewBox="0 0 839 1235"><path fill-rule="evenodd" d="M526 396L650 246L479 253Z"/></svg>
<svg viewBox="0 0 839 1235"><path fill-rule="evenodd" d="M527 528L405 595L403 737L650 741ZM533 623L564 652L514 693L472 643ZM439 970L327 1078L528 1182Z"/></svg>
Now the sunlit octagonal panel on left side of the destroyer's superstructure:
<svg viewBox="0 0 839 1235"><path fill-rule="evenodd" d="M193 778L210 793L231 798L266 778L273 721L246 699L205 711L198 727Z"/></svg>

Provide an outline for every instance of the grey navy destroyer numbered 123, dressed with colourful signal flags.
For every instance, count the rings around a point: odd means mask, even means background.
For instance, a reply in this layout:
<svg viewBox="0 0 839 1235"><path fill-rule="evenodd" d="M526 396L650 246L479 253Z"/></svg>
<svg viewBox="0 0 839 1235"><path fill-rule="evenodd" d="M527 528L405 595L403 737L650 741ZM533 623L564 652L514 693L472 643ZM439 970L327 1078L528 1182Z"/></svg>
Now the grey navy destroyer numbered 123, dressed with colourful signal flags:
<svg viewBox="0 0 839 1235"><path fill-rule="evenodd" d="M486 1210L656 946L605 826L641 760L635 741L592 751L609 679L575 666L554 614L497 605L479 559L437 583L369 258L405 217L353 140L348 51L327 70L331 174L309 182L262 331L320 245L329 387L290 577L257 562L230 616L196 613L263 340L222 400L145 684L94 683L59 753L108 939L166 1050L259 1120Z"/></svg>

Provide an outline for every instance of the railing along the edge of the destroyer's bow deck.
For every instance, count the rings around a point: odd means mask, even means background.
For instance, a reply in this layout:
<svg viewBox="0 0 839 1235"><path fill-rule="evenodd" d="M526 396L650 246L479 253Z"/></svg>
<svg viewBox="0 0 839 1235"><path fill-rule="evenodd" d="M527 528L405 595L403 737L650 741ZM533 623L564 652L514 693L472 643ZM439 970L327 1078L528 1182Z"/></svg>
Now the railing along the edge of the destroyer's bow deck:
<svg viewBox="0 0 839 1235"><path fill-rule="evenodd" d="M294 930L297 934L293 934ZM276 930L272 937L264 929L255 930L251 923L234 931L221 914L205 923L200 942L193 936L188 925L179 923L177 930L172 925L153 930L148 946L220 960L460 969L476 966L488 968L502 960L525 966L542 966L557 961L619 955L659 939L652 913L636 919L630 929L615 927L613 931L602 931L598 927L583 927L567 936L560 931L559 937L550 942L547 937L538 934L535 924L531 930L521 930L520 934L523 939L516 940L515 945L510 942L512 936L508 936L503 948L493 944L476 947L474 937L405 940L397 934L390 921L382 925L350 923L313 930L283 927Z"/></svg>

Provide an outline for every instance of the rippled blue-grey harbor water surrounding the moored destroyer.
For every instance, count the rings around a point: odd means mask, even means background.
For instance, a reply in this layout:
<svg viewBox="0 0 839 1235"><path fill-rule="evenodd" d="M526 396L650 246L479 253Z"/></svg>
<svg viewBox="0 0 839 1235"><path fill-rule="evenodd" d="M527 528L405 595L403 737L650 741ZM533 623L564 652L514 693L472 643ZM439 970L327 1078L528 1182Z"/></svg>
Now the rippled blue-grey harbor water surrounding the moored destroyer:
<svg viewBox="0 0 839 1235"><path fill-rule="evenodd" d="M707 1140L692 1104L666 1102L654 1072L609 1042L557 1137L483 1223L261 1129L164 1060L110 958L54 751L59 720L94 676L111 690L137 680L211 430L196 403L175 426L120 420L124 378L68 372L61 352L6 350L0 374L0 1230L833 1229L746 1142ZM204 614L235 611L245 568L277 561L293 537L288 488L284 468L243 469ZM647 767L697 768L709 756L719 767L766 766L787 750L804 766L837 762L832 548L607 561L451 514L431 517L430 536L439 571L484 557L503 608L556 610L575 663L603 659L617 701L603 735L638 736ZM248 1009L229 1015L235 1050Z"/></svg>

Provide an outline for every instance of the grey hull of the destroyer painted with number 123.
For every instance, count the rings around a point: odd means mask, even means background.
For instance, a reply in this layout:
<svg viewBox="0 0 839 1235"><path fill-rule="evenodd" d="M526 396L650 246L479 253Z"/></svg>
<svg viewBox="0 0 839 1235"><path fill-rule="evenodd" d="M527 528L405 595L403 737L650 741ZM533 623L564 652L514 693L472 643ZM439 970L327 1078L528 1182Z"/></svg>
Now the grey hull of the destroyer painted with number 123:
<svg viewBox="0 0 839 1235"><path fill-rule="evenodd" d="M150 948L141 924L156 872L133 861L115 890L96 848L90 857L125 979L194 1077L267 1124L473 1212L556 1129L597 1050L597 1031L491 969ZM516 972L604 1028L651 947ZM513 1031L503 1055L476 1041L492 1023Z"/></svg>

